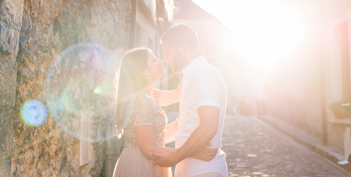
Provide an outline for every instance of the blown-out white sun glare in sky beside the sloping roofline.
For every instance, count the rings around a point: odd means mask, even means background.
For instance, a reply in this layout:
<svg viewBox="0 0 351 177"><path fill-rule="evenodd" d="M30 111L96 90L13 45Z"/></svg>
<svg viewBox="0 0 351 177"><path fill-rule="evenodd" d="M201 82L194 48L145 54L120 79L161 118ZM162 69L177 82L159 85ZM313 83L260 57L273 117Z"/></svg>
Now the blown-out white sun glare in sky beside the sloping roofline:
<svg viewBox="0 0 351 177"><path fill-rule="evenodd" d="M286 58L306 37L305 3L282 0L193 0L231 30L226 50L262 72Z"/></svg>

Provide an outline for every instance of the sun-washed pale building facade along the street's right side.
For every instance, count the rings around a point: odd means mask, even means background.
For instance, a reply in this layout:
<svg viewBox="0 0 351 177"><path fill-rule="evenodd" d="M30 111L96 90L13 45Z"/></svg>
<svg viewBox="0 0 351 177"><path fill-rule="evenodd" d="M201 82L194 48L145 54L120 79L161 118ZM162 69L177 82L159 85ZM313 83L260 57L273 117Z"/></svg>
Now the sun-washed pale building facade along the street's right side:
<svg viewBox="0 0 351 177"><path fill-rule="evenodd" d="M336 118L329 105L350 102L351 2L304 2L309 9L309 33L305 43L278 69L265 93L269 114L290 123L340 150L350 118Z"/></svg>

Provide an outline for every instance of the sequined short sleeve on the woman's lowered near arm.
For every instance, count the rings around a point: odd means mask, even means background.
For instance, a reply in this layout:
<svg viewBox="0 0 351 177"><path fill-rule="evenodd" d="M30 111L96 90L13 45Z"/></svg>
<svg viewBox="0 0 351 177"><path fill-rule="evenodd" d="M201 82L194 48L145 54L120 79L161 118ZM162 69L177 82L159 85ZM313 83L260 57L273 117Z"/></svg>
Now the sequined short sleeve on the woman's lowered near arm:
<svg viewBox="0 0 351 177"><path fill-rule="evenodd" d="M153 120L153 102L145 93L135 96L131 102L130 120L133 126L152 125Z"/></svg>

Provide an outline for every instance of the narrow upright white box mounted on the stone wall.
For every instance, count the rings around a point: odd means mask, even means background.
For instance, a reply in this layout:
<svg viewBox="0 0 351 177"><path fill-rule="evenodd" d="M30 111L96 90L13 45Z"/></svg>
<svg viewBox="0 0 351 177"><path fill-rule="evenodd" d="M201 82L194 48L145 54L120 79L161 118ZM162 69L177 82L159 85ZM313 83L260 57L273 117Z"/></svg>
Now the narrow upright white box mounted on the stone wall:
<svg viewBox="0 0 351 177"><path fill-rule="evenodd" d="M90 115L80 116L80 166L89 161Z"/></svg>

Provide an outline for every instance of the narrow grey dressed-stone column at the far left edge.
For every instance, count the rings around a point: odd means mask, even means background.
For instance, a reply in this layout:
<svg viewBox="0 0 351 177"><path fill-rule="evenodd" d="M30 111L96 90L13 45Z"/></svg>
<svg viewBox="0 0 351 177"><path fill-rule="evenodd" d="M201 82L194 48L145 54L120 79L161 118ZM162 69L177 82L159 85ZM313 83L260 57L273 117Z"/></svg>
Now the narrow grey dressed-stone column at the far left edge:
<svg viewBox="0 0 351 177"><path fill-rule="evenodd" d="M16 54L23 0L0 1L0 176L11 175Z"/></svg>

